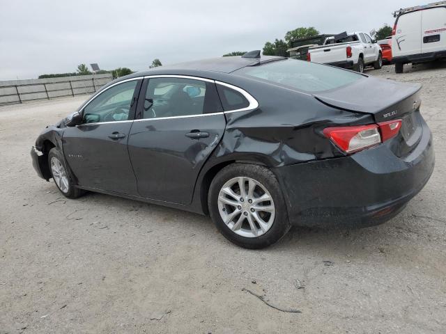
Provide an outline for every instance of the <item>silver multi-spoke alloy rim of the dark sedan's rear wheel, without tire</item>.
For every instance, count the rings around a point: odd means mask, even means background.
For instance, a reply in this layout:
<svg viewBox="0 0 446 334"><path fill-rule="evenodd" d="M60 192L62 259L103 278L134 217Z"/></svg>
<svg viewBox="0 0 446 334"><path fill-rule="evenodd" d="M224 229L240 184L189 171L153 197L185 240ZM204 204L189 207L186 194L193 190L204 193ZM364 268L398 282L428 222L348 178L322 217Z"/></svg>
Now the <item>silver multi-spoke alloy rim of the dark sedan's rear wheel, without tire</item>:
<svg viewBox="0 0 446 334"><path fill-rule="evenodd" d="M268 232L275 218L270 192L251 177L234 177L222 186L218 211L230 230L248 238Z"/></svg>

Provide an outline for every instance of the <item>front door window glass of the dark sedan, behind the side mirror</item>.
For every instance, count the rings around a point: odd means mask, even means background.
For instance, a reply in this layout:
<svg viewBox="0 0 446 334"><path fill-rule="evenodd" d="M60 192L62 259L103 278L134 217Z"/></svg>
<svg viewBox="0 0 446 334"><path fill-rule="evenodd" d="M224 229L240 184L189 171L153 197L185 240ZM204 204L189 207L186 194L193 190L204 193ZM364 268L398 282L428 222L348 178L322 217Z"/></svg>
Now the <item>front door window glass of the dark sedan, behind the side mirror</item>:
<svg viewBox="0 0 446 334"><path fill-rule="evenodd" d="M137 80L127 81L105 90L84 108L84 123L128 120Z"/></svg>

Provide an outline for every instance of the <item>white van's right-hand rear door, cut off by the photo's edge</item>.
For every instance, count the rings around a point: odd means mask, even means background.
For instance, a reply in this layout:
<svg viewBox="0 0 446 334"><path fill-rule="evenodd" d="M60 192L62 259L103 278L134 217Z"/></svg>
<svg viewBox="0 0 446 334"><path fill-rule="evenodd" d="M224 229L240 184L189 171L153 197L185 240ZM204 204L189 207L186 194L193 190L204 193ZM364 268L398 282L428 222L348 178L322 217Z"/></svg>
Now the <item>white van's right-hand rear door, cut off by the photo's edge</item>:
<svg viewBox="0 0 446 334"><path fill-rule="evenodd" d="M446 8L422 10L422 53L446 50Z"/></svg>

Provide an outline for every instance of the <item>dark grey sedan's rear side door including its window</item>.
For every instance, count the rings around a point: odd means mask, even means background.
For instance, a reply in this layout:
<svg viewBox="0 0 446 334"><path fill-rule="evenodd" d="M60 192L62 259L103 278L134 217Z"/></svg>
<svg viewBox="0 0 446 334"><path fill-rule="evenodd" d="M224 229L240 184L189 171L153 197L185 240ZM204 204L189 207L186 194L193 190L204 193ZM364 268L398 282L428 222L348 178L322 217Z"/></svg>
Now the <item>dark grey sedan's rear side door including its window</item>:
<svg viewBox="0 0 446 334"><path fill-rule="evenodd" d="M144 80L128 149L139 194L189 204L199 171L226 120L215 83L193 77Z"/></svg>

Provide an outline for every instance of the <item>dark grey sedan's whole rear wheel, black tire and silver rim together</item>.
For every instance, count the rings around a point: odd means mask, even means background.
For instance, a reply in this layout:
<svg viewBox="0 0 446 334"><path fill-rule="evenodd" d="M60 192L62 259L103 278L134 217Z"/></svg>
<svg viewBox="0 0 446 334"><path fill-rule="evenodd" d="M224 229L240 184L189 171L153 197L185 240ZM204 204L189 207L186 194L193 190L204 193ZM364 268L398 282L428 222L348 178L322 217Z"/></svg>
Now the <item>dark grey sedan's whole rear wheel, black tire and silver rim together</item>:
<svg viewBox="0 0 446 334"><path fill-rule="evenodd" d="M263 166L231 164L220 170L210 184L208 207L218 230L240 247L268 247L291 228L279 182Z"/></svg>

